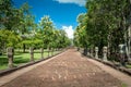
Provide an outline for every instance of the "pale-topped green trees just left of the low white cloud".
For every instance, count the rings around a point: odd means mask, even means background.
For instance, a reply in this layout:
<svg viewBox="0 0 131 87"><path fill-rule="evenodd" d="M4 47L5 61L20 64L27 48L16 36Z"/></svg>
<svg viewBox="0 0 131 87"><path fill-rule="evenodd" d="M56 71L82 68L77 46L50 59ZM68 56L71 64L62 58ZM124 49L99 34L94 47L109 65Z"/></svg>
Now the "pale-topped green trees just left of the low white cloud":
<svg viewBox="0 0 131 87"><path fill-rule="evenodd" d="M39 35L44 47L46 48L63 48L69 46L69 38L64 30L58 30L55 28L53 23L49 16L41 17L39 23Z"/></svg>

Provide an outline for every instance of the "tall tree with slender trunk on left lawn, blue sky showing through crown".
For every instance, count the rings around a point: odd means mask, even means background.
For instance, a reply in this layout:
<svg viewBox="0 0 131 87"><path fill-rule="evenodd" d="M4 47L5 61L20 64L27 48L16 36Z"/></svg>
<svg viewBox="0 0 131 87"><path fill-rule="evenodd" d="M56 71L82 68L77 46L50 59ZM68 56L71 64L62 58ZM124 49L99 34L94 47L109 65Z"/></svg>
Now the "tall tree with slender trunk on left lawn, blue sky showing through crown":
<svg viewBox="0 0 131 87"><path fill-rule="evenodd" d="M26 45L28 44L28 41L26 41L26 39L28 39L28 35L32 35L32 32L36 28L35 17L29 13L29 8L28 3L24 3L19 10L20 22L16 30L19 30L23 40L21 42L23 45L23 52L25 52ZM34 36L32 38L34 38Z"/></svg>

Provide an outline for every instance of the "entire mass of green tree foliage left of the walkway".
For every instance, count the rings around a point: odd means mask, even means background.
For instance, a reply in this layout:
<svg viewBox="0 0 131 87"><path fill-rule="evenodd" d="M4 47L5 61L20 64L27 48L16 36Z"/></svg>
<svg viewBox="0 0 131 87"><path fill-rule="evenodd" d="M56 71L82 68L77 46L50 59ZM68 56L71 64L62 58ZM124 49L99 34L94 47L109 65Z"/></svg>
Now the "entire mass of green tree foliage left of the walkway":
<svg viewBox="0 0 131 87"><path fill-rule="evenodd" d="M40 23L29 12L28 3L20 8L12 0L0 0L0 53L7 47L23 48L63 48L69 45L66 33L56 29L53 22L45 15ZM60 42L60 44L59 44Z"/></svg>

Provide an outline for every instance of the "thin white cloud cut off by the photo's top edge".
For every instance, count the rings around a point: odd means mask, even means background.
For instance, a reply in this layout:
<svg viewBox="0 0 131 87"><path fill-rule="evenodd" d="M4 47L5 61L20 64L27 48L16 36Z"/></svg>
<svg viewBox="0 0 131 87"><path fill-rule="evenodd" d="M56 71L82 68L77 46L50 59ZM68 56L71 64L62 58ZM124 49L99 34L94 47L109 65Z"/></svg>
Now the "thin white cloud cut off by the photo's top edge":
<svg viewBox="0 0 131 87"><path fill-rule="evenodd" d="M58 1L59 3L75 3L79 4L80 7L84 7L86 3L86 0L53 0Z"/></svg>

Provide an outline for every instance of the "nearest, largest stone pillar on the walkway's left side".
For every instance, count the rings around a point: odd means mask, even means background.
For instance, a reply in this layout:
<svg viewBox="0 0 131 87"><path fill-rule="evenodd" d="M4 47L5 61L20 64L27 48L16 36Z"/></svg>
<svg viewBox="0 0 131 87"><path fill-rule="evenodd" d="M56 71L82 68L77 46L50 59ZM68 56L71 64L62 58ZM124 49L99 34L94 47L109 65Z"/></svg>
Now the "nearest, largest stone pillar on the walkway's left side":
<svg viewBox="0 0 131 87"><path fill-rule="evenodd" d="M13 54L14 54L14 49L12 47L9 47L7 49L7 53L8 53L8 59L9 59L9 67L12 69L13 67Z"/></svg>

